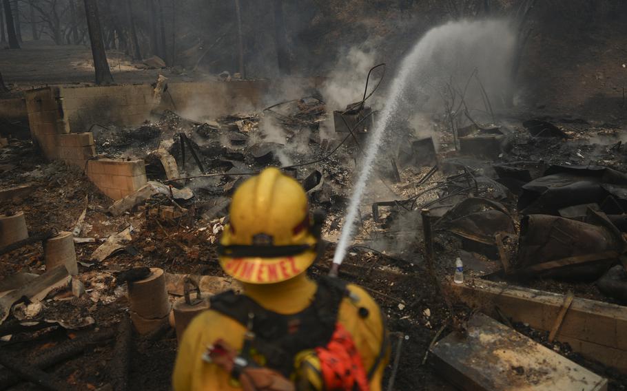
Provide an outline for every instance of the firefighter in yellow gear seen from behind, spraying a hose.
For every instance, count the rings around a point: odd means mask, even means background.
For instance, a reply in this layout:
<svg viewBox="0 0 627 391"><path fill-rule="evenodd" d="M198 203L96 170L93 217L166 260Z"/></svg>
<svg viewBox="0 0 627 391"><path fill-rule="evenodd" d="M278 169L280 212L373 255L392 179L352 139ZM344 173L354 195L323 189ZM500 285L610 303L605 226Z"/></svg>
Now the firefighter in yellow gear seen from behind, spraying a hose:
<svg viewBox="0 0 627 391"><path fill-rule="evenodd" d="M183 335L174 390L381 389L380 308L359 286L314 282L320 224L293 178L268 168L234 193L218 255L243 293L215 295Z"/></svg>

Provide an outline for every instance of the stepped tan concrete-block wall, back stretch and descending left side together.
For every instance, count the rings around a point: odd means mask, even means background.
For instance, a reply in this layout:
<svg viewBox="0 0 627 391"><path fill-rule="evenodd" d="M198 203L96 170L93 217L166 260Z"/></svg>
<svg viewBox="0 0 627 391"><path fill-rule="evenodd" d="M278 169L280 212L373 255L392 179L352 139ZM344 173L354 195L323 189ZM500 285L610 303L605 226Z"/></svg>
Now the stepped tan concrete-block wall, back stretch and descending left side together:
<svg viewBox="0 0 627 391"><path fill-rule="evenodd" d="M34 144L45 158L80 167L105 195L119 200L146 183L144 163L94 162L96 147L89 132L92 125L138 126L165 109L189 118L258 110L269 103L300 98L307 89L320 87L323 81L287 78L276 82L167 83L167 92L163 94L156 94L150 84L51 86L25 92L24 107ZM123 171L132 175L116 173L123 165L130 167Z"/></svg>

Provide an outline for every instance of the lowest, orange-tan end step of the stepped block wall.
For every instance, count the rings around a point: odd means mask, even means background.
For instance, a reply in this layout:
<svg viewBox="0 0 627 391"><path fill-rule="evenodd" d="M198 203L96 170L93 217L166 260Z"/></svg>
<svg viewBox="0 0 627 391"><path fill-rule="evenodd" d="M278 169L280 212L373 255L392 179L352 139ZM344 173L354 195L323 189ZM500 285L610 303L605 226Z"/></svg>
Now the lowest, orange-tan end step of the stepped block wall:
<svg viewBox="0 0 627 391"><path fill-rule="evenodd" d="M89 160L86 173L96 187L113 200L132 194L147 183L143 160Z"/></svg>

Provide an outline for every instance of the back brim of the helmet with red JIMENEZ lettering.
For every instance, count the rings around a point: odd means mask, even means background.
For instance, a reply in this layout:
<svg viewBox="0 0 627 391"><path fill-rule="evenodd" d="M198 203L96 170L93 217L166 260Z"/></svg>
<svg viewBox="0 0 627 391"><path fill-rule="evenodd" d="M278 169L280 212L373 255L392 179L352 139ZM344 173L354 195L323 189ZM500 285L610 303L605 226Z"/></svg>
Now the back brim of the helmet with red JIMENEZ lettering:
<svg viewBox="0 0 627 391"><path fill-rule="evenodd" d="M225 264L225 271L236 279L260 283L279 282L298 275L302 271L296 266L294 257L281 260L249 260L234 258Z"/></svg>

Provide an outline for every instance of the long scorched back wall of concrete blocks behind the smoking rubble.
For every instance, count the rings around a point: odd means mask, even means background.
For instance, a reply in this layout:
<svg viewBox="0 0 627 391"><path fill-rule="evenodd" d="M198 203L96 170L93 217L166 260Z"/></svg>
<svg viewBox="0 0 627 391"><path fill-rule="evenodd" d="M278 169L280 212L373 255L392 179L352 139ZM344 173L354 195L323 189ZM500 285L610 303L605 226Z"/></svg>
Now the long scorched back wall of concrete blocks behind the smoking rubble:
<svg viewBox="0 0 627 391"><path fill-rule="evenodd" d="M161 100L152 85L59 87L63 120L73 132L89 131L94 124L138 126L153 112L174 109L182 116L217 117L263 109L276 101L301 98L302 91L319 87L322 78L290 78L280 81L167 82Z"/></svg>

